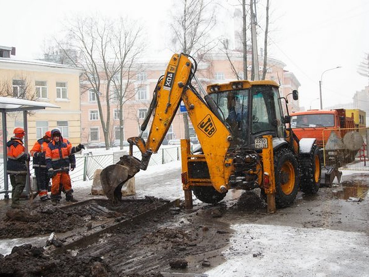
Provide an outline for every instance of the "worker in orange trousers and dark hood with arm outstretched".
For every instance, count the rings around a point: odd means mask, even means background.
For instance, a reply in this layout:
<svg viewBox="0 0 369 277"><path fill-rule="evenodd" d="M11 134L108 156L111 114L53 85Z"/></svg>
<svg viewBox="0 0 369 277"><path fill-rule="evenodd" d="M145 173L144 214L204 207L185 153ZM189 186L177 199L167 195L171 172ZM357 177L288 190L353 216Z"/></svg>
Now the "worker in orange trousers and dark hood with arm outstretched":
<svg viewBox="0 0 369 277"><path fill-rule="evenodd" d="M59 129L51 130L52 141L46 148L46 168L52 178L51 202L56 205L61 200L61 191L64 188L66 201L76 200L73 198L73 189L70 182L69 167L73 171L76 167L75 153L85 149L83 144L73 147L63 138ZM61 184L63 184L61 186Z"/></svg>

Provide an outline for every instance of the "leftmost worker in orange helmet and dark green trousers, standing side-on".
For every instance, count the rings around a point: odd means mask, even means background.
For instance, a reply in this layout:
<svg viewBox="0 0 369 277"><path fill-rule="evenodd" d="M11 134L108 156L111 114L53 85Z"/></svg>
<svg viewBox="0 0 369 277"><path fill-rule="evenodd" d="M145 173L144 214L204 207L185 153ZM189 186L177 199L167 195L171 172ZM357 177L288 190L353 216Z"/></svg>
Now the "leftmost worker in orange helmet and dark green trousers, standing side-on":
<svg viewBox="0 0 369 277"><path fill-rule="evenodd" d="M8 163L7 174L10 177L11 183L11 207L21 208L19 198L25 187L27 180L28 161L30 161L30 154L25 151L23 146L23 137L25 131L23 128L17 127L13 131L14 137L11 137L7 142Z"/></svg>

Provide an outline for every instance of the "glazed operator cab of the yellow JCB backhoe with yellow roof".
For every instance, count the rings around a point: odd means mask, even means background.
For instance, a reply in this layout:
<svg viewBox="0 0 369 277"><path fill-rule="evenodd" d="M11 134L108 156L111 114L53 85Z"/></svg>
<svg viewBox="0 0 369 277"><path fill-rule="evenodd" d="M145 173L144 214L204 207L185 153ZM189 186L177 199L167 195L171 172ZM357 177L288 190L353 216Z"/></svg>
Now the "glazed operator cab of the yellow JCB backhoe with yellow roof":
<svg viewBox="0 0 369 277"><path fill-rule="evenodd" d="M210 108L232 134L231 148L249 146L255 138L267 134L284 137L286 127L277 83L238 81L209 85L207 90L205 100L215 103Z"/></svg>

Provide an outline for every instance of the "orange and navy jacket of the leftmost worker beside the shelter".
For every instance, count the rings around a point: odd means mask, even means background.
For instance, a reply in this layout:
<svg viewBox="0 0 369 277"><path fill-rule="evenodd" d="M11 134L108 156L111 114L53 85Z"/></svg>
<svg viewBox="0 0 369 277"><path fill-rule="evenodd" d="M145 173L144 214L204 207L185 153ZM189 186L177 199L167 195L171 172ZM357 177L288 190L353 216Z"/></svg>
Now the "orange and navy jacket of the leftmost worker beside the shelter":
<svg viewBox="0 0 369 277"><path fill-rule="evenodd" d="M28 154L25 153L23 141L20 138L12 137L6 146L8 152L7 174L27 174L25 161Z"/></svg>

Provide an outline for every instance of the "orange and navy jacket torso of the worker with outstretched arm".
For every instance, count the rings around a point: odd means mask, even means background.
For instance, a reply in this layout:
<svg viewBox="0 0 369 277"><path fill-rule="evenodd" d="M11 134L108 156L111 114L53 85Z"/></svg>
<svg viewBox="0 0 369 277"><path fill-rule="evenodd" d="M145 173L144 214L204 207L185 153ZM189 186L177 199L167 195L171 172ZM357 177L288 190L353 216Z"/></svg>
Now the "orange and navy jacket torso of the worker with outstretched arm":
<svg viewBox="0 0 369 277"><path fill-rule="evenodd" d="M69 171L71 167L76 167L76 158L73 155L75 147L66 139L61 137L61 141L54 140L48 143L46 148L46 167L48 170Z"/></svg>

